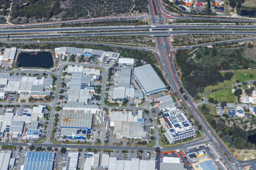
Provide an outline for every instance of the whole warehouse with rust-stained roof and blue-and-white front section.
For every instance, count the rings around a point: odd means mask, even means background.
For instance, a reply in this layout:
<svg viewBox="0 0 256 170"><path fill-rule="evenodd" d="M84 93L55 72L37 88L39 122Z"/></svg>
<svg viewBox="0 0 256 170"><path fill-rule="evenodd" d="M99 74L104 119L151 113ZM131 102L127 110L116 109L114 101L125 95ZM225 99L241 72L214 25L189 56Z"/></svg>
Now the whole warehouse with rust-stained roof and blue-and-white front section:
<svg viewBox="0 0 256 170"><path fill-rule="evenodd" d="M61 137L85 139L92 129L93 114L84 112L63 112L60 121Z"/></svg>

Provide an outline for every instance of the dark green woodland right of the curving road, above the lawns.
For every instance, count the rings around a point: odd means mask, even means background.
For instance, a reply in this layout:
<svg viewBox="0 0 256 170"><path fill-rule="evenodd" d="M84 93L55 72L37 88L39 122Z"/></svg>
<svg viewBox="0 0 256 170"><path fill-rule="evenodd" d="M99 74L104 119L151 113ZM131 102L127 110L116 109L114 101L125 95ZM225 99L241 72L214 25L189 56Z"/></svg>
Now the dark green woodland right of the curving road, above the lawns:
<svg viewBox="0 0 256 170"><path fill-rule="evenodd" d="M222 76L219 70L254 68L255 61L243 57L243 49L201 49L195 54L189 50L178 50L177 65L181 69L184 87L190 95L199 99L198 94L209 85L230 79L232 73Z"/></svg>

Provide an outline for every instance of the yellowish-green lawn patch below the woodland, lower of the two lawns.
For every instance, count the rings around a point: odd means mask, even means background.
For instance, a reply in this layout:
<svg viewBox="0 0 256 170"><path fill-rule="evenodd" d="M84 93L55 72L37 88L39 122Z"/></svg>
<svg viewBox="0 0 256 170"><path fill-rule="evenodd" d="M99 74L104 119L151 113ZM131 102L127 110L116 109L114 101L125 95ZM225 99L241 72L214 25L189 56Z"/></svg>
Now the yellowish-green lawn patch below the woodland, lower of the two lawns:
<svg viewBox="0 0 256 170"><path fill-rule="evenodd" d="M212 97L214 100L226 101L230 103L236 101L236 97L232 93L232 88L224 88L222 90L210 92L207 99L210 99L210 97Z"/></svg>

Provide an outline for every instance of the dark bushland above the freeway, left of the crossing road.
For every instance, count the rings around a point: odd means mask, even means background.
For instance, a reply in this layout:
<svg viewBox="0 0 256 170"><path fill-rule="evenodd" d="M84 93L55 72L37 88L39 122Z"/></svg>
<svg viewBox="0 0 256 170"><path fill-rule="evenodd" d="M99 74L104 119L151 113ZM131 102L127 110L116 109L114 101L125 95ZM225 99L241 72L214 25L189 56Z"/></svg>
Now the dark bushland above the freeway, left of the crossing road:
<svg viewBox="0 0 256 170"><path fill-rule="evenodd" d="M30 22L147 12L146 0L14 0L11 19L14 22Z"/></svg>

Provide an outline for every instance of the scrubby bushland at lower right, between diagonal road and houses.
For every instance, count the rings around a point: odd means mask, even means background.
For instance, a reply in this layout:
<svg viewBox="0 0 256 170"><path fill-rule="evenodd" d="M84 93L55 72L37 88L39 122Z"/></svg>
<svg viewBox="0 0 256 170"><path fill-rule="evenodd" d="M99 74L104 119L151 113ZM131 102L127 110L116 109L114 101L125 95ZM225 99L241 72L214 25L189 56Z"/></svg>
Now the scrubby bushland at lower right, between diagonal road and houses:
<svg viewBox="0 0 256 170"><path fill-rule="evenodd" d="M224 117L213 116L205 105L202 105L199 109L207 118L212 128L216 130L216 133L230 148L255 148L253 143L247 142L248 136L256 133L256 129L253 128L256 124L255 118L249 123L249 120L229 117L226 114Z"/></svg>

